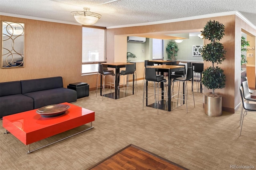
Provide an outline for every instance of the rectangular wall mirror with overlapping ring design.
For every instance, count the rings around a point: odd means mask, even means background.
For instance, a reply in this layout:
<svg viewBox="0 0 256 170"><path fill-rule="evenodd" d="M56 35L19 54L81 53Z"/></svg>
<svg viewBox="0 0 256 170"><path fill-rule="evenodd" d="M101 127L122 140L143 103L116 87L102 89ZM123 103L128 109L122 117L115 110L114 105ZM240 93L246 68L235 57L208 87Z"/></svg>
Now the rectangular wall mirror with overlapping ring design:
<svg viewBox="0 0 256 170"><path fill-rule="evenodd" d="M2 68L24 67L24 24L2 21Z"/></svg>

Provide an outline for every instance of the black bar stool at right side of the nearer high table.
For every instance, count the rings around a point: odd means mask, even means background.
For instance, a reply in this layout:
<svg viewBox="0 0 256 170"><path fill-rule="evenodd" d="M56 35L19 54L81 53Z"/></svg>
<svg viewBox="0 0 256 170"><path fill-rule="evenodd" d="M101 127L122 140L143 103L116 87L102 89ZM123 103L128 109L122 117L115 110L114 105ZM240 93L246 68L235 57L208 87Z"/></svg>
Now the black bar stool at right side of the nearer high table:
<svg viewBox="0 0 256 170"><path fill-rule="evenodd" d="M178 99L178 101L179 101L179 95L180 95L180 83L182 82L182 84L184 83L184 85L185 85L185 87L184 87L184 92L182 92L182 93L184 93L184 95L182 94L181 95L181 99L180 100L183 100L183 101L186 101L186 107L187 107L187 113L188 113L188 84L187 84L187 82L188 82L188 80L190 80L190 79L192 79L192 76L193 76L193 68L192 67L190 67L190 68L188 68L188 72L187 72L187 75L185 76L185 77L178 77L178 78L175 78L175 79L173 79L173 83L174 82L179 82L179 87L178 87L178 93L176 94L176 95L178 95L178 98L176 98L176 99ZM172 93L173 93L173 91L174 91L174 85L172 85ZM195 107L195 99L194 99L194 92L192 91L192 94L193 94L193 100L194 100L194 107ZM176 95L173 95L172 97L173 98L175 98L174 96L176 96ZM177 101L177 105L178 105L178 101Z"/></svg>

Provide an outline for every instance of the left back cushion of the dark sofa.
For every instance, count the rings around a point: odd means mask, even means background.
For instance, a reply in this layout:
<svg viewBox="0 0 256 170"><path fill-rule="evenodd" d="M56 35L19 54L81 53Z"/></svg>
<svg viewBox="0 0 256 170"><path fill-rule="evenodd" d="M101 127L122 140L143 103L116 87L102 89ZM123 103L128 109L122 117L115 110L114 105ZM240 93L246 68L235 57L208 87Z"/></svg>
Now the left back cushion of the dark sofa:
<svg viewBox="0 0 256 170"><path fill-rule="evenodd" d="M21 94L20 81L0 83L0 97Z"/></svg>

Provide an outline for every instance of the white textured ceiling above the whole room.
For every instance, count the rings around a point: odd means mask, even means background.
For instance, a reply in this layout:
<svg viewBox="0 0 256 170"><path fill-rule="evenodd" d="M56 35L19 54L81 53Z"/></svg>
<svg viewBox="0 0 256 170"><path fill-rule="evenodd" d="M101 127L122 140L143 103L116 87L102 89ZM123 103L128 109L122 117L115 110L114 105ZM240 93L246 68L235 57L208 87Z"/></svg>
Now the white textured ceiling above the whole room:
<svg viewBox="0 0 256 170"><path fill-rule="evenodd" d="M256 26L256 0L0 0L0 14L77 23L72 11L102 15L94 26L113 27L238 11Z"/></svg>

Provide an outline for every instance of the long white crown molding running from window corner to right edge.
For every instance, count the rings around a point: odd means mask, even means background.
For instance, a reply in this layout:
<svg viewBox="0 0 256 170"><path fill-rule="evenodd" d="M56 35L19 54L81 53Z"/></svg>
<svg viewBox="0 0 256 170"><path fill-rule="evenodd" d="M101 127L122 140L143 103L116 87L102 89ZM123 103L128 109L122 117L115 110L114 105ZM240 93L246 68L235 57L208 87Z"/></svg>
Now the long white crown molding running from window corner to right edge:
<svg viewBox="0 0 256 170"><path fill-rule="evenodd" d="M244 20L244 22L249 24L252 28L256 29L256 26L254 26L249 20L247 20L238 11L221 12L221 13L216 13L216 14L206 14L206 15L200 15L200 16L192 16L192 17L186 17L186 18L178 18L178 19L173 19L173 20L164 20L164 21L157 21L157 22L147 22L147 23L140 23L140 24L128 24L128 25L120 25L120 26L109 26L109 27L107 27L107 29L134 27L134 26L148 26L148 25L154 25L154 24L165 24L165 23L171 23L171 22L180 22L180 21L188 21L188 20L196 20L196 19L202 19L202 18L211 18L211 17L218 17L218 16L228 16L228 15L237 15L239 18Z"/></svg>

